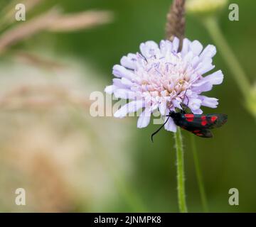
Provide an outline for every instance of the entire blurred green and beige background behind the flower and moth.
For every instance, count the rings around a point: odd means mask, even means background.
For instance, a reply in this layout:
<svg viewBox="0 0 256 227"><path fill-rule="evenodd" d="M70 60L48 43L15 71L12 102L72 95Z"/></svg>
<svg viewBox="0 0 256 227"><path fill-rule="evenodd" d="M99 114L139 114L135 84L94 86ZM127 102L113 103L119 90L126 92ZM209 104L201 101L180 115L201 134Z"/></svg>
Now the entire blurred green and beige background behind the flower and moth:
<svg viewBox="0 0 256 227"><path fill-rule="evenodd" d="M227 6L220 26L253 82L256 2L233 3L239 4L240 21L228 20ZM1 27L1 35L31 23L55 4L68 15L110 11L114 21L72 33L43 29L1 52L0 210L142 211L134 199L139 198L147 211L178 211L172 134L161 131L152 144L150 134L157 126L137 129L135 118L92 118L87 106L90 92L110 84L112 65L122 55L137 52L145 40L164 38L171 1L46 0L28 11L26 22ZM186 37L213 43L191 16ZM220 99L216 112L229 118L213 131L213 139L196 138L209 208L256 211L255 120L218 53L215 67L225 74L223 84L212 91ZM188 133L183 135L188 210L202 211ZM26 206L14 204L18 187L27 191ZM239 189L239 206L228 205L232 187Z"/></svg>

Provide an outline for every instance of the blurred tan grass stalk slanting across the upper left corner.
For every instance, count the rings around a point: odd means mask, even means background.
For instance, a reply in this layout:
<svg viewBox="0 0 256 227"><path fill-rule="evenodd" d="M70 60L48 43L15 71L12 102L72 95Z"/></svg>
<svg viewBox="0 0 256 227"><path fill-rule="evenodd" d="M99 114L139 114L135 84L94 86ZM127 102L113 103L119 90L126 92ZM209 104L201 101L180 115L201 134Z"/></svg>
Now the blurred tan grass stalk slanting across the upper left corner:
<svg viewBox="0 0 256 227"><path fill-rule="evenodd" d="M41 31L70 32L91 28L112 21L110 11L84 11L73 14L61 14L57 9L50 9L41 16L19 23L0 36L0 55L11 45L30 38Z"/></svg>

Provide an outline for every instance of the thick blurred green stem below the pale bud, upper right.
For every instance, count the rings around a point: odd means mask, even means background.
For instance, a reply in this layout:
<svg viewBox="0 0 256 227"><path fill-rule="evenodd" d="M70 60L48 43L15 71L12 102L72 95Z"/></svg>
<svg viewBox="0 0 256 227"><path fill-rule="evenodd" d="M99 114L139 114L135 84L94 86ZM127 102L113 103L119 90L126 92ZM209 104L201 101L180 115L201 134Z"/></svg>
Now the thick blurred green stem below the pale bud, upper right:
<svg viewBox="0 0 256 227"><path fill-rule="evenodd" d="M250 82L247 80L246 74L244 70L242 70L237 57L231 50L228 42L225 40L223 33L220 31L217 19L213 16L209 17L204 21L204 25L206 26L211 38L213 38L215 45L218 47L220 55L222 55L223 60L228 65L230 72L233 73L235 82L238 84L242 94L247 99L248 91L250 91Z"/></svg>

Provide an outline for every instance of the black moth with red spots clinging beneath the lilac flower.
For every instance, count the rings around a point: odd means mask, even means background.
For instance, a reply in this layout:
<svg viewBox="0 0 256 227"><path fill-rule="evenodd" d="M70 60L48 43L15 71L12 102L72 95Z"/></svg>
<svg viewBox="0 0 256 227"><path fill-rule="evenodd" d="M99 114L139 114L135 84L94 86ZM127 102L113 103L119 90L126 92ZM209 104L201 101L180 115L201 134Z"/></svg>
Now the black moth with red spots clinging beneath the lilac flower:
<svg viewBox="0 0 256 227"><path fill-rule="evenodd" d="M158 133L161 130L161 128L164 127L164 125L168 122L169 118L173 118L174 123L176 123L176 126L179 126L185 129L186 131L189 131L203 138L212 138L213 134L210 132L210 129L219 128L228 121L228 115L226 114L186 113L184 106L186 106L186 108L188 107L188 105L182 104L182 110L180 112L169 112L169 114L167 115L168 118L166 119L164 124L151 135L152 142L154 135L156 135L156 133Z"/></svg>

